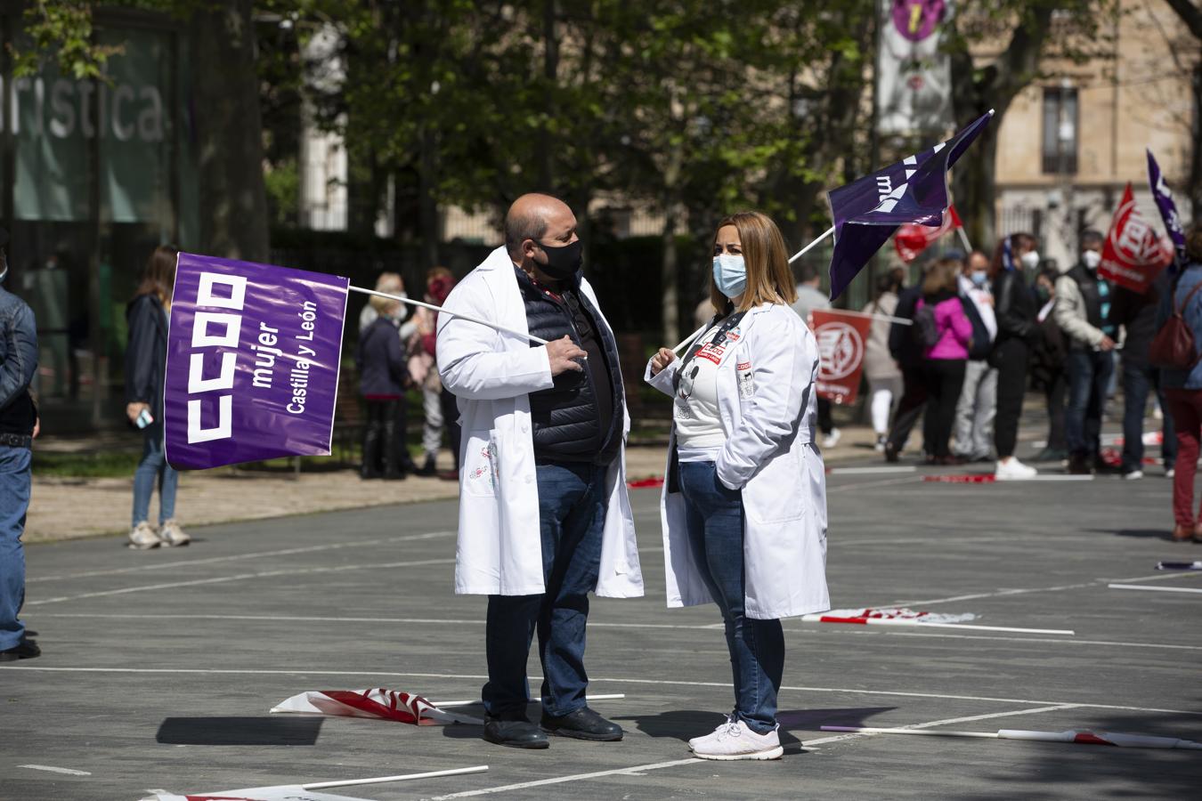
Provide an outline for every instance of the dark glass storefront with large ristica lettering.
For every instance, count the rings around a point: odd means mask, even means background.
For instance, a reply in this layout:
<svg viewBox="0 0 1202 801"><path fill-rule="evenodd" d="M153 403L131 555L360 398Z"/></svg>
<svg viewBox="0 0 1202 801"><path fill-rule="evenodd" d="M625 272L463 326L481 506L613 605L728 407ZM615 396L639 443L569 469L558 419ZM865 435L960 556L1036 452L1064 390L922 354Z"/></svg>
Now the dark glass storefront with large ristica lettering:
<svg viewBox="0 0 1202 801"><path fill-rule="evenodd" d="M44 64L0 73L0 219L6 287L37 316L43 430L120 424L125 305L159 244L195 246L196 157L186 30L166 18L96 16L118 44L105 80ZM23 44L20 16L0 47ZM11 177L11 178L10 178Z"/></svg>

